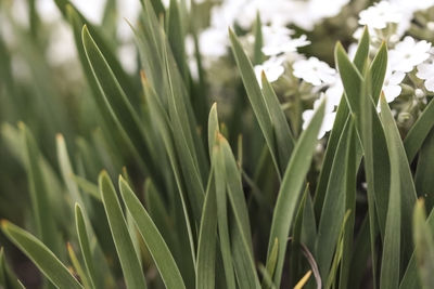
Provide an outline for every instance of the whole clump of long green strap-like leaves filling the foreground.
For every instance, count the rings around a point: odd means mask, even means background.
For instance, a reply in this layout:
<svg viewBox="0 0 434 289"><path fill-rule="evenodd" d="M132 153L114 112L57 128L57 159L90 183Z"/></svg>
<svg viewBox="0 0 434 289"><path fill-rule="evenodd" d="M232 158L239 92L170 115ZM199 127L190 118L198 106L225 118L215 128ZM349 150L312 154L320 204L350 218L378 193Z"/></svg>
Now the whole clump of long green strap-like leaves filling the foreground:
<svg viewBox="0 0 434 289"><path fill-rule="evenodd" d="M158 0L142 1L140 22L131 28L141 86L123 69L106 31L67 0L56 4L73 29L89 87L86 110L95 117L86 123L99 129L81 131L74 143L74 129L62 129L72 126L67 120L49 120L50 130L68 132L66 141L58 134L55 156L38 146L43 134L28 119L30 129L4 122L1 130L25 168L33 216L26 224L31 234L4 220L1 228L44 275L44 286L432 288L434 218L424 210L432 212L433 165L422 157L432 158L434 105L403 141L382 95L387 49L383 43L370 57L368 29L353 62L335 47L345 92L318 174L311 163L326 101L307 129L293 133L273 88L265 74L259 86L232 30L228 37L245 88L240 94L250 103L242 102L242 110L251 107L254 115L243 130L230 126L241 121L238 110L220 121L219 106L209 108L199 54L199 79L191 76L181 48L186 29L194 34L194 27L182 22L182 1L171 1L167 11ZM8 63L8 53L1 56ZM53 107L61 118L56 109L63 106ZM0 285L23 287L3 250Z"/></svg>

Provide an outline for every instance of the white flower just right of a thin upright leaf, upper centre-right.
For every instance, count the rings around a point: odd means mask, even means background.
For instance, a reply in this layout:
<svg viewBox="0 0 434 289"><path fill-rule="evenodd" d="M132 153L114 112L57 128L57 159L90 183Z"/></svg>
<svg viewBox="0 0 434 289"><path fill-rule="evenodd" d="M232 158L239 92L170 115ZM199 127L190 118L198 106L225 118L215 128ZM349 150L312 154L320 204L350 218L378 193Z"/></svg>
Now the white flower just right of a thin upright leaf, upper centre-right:
<svg viewBox="0 0 434 289"><path fill-rule="evenodd" d="M305 35L292 39L294 31L284 26L263 26L265 55L278 55L280 53L291 53L297 51L297 48L310 44Z"/></svg>

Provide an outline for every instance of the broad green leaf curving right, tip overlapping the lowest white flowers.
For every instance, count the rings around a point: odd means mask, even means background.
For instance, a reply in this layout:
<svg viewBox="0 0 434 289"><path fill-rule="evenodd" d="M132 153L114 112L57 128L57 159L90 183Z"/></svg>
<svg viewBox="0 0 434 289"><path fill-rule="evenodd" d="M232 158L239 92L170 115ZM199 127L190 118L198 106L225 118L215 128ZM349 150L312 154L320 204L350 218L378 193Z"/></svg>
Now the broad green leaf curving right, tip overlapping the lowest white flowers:
<svg viewBox="0 0 434 289"><path fill-rule="evenodd" d="M268 242L268 255L270 255L275 239L277 238L279 241L279 258L273 278L277 287L280 286L281 281L288 234L290 233L301 189L315 153L318 132L324 116L324 107L326 103L322 102L308 128L299 136L279 189Z"/></svg>

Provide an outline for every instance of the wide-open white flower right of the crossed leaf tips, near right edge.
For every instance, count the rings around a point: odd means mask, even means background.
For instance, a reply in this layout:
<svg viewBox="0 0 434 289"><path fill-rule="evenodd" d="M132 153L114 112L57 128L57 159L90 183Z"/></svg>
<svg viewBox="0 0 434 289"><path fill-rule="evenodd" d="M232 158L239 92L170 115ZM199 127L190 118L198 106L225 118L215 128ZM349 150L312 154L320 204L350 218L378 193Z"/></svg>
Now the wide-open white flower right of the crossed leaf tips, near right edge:
<svg viewBox="0 0 434 289"><path fill-rule="evenodd" d="M416 42L407 36L390 51L390 63L392 70L409 73L414 66L430 57L431 43L426 40Z"/></svg>

